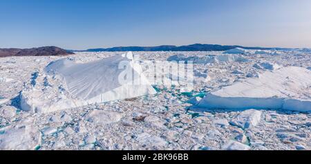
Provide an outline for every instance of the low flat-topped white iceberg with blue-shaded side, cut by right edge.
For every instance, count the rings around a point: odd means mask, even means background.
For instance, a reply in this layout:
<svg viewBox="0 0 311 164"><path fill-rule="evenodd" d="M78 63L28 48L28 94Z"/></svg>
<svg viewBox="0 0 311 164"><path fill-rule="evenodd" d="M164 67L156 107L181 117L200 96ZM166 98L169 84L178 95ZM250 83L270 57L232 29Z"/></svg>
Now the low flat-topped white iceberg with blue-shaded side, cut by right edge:
<svg viewBox="0 0 311 164"><path fill-rule="evenodd" d="M207 109L311 111L311 71L287 67L211 92L199 103Z"/></svg>

